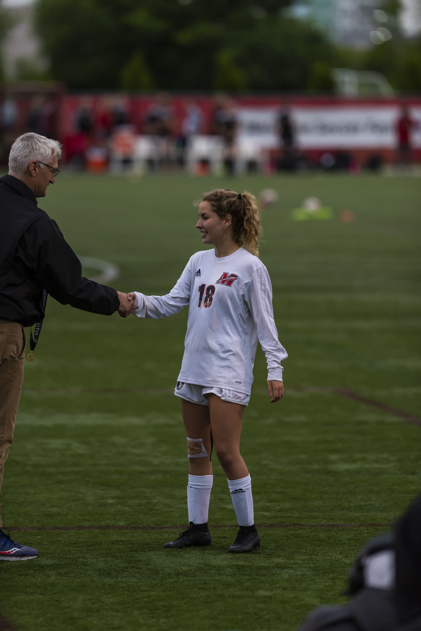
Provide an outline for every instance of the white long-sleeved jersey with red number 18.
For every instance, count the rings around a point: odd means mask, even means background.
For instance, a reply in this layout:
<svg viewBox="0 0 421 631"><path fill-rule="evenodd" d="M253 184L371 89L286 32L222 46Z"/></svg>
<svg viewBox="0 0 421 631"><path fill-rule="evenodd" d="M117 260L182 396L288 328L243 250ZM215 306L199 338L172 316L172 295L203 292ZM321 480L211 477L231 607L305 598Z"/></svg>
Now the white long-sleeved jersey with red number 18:
<svg viewBox="0 0 421 631"><path fill-rule="evenodd" d="M189 305L184 357L178 381L250 394L258 339L268 380L282 381L283 359L273 321L272 287L258 257L240 248L218 258L196 252L165 296L136 292L138 317L173 315Z"/></svg>

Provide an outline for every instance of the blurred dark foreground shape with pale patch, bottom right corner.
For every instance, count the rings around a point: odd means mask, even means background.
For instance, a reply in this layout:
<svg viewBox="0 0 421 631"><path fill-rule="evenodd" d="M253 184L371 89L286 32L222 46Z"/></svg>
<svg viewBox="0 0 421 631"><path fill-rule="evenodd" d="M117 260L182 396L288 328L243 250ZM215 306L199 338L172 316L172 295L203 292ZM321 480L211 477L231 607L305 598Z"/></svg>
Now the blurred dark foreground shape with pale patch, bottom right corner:
<svg viewBox="0 0 421 631"><path fill-rule="evenodd" d="M297 631L421 630L421 497L394 533L369 540L348 575L343 606L322 606Z"/></svg>

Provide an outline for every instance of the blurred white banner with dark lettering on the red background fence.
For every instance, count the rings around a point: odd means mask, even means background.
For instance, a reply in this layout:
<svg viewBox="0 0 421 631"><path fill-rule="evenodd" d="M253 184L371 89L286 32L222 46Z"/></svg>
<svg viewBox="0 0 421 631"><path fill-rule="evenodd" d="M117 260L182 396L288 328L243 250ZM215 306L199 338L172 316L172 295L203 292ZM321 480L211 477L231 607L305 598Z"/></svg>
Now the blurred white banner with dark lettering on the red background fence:
<svg viewBox="0 0 421 631"><path fill-rule="evenodd" d="M421 148L421 107L410 107L409 112L415 121L412 146ZM291 106L289 114L300 150L394 149L398 144L399 105ZM254 139L259 148L280 146L279 119L278 108L240 108L239 143Z"/></svg>

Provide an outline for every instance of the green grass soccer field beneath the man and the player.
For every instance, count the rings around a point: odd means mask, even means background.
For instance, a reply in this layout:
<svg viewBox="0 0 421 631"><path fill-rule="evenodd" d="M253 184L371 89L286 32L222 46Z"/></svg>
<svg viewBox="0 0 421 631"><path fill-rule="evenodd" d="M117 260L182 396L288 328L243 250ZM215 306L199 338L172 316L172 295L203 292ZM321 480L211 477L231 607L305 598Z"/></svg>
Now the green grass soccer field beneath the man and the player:
<svg viewBox="0 0 421 631"><path fill-rule="evenodd" d="M16 631L293 631L315 606L344 602L359 548L420 490L421 427L329 390L421 416L419 180L60 175L40 206L80 256L119 266L117 289L161 294L201 249L192 201L215 186L280 194L263 213L261 259L290 355L286 393L268 402L259 349L242 438L261 548L227 554L235 516L217 462L213 545L162 548L187 522L172 395L187 312L122 320L49 298L1 495L6 531L40 551L0 567ZM309 195L335 219L292 221Z"/></svg>

